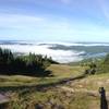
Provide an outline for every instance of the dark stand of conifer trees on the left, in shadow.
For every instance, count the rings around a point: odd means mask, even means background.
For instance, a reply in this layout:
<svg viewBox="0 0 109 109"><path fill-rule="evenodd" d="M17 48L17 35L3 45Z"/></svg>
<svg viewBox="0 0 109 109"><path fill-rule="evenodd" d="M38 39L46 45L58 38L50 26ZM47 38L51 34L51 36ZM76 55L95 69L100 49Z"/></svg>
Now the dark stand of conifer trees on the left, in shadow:
<svg viewBox="0 0 109 109"><path fill-rule="evenodd" d="M47 56L29 53L27 56L14 56L9 49L0 48L0 74L23 74L32 76L48 76L51 74L47 68L58 62Z"/></svg>

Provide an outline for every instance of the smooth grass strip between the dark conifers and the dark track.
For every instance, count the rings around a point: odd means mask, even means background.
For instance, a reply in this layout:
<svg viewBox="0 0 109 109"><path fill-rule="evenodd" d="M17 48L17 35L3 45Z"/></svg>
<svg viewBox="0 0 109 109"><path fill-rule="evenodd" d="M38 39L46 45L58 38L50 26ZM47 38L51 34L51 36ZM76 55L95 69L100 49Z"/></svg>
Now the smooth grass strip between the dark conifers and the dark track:
<svg viewBox="0 0 109 109"><path fill-rule="evenodd" d="M0 86L21 86L55 83L66 77L75 77L84 71L81 66L57 65L48 68L52 71L52 77L31 77L23 75L0 75Z"/></svg>

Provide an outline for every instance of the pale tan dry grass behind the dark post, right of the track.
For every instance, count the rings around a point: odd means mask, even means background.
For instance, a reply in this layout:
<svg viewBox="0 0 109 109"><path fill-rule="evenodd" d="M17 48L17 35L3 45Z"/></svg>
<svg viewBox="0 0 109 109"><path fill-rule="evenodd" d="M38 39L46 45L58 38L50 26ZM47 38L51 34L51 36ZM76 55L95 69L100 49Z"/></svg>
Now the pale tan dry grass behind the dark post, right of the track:
<svg viewBox="0 0 109 109"><path fill-rule="evenodd" d="M69 84L76 89L88 89L98 92L99 87L105 87L109 92L109 74L89 75L83 80L74 81Z"/></svg>

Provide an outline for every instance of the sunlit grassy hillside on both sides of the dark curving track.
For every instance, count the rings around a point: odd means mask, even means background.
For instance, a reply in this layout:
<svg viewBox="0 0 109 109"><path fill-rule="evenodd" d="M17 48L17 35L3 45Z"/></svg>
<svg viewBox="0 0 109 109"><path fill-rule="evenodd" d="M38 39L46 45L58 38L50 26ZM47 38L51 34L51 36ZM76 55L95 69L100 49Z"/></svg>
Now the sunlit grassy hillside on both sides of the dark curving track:
<svg viewBox="0 0 109 109"><path fill-rule="evenodd" d="M85 70L82 66L56 64L48 69L52 71L53 77L0 76L0 86L55 83L62 78L75 77ZM63 109L99 109L98 88L104 86L109 92L108 76L108 73L90 75L44 92L36 92L35 88L10 92L9 95L12 99L10 109L35 109L37 104L44 107L44 109L52 109L52 107L56 107L56 109L60 109L60 107L64 107Z"/></svg>

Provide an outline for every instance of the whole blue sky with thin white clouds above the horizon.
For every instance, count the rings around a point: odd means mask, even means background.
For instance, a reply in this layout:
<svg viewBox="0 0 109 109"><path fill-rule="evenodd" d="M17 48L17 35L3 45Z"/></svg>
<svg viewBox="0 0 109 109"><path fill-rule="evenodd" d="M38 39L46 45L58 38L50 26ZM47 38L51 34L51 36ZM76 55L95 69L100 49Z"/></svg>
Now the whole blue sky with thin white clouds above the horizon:
<svg viewBox="0 0 109 109"><path fill-rule="evenodd" d="M109 41L109 0L0 0L0 39Z"/></svg>

